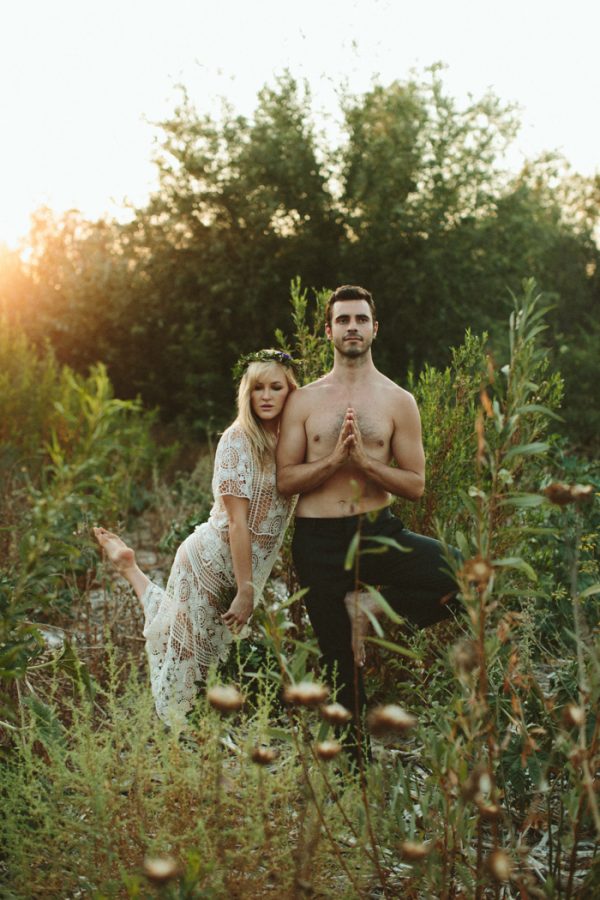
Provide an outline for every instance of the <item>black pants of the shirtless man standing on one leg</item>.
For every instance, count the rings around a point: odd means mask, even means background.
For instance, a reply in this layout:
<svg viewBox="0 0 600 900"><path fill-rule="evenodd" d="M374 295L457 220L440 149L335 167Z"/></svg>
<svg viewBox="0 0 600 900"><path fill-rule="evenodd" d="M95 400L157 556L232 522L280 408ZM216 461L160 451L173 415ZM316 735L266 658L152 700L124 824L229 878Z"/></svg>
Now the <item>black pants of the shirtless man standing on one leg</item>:
<svg viewBox="0 0 600 900"><path fill-rule="evenodd" d="M377 585L390 606L409 621L425 627L447 618L455 609L457 591L440 542L407 531L389 509L382 510L374 521L366 515L296 518L292 554L300 584L308 588L304 602L322 662L330 674L337 670L337 700L351 711L355 711L355 667L352 626L344 597L354 590L355 572L345 571L344 562L359 527L362 551L381 547L365 540L370 536L392 538L407 548L408 552L388 547L383 553L361 553L358 576L363 583ZM365 701L359 669L359 711Z"/></svg>

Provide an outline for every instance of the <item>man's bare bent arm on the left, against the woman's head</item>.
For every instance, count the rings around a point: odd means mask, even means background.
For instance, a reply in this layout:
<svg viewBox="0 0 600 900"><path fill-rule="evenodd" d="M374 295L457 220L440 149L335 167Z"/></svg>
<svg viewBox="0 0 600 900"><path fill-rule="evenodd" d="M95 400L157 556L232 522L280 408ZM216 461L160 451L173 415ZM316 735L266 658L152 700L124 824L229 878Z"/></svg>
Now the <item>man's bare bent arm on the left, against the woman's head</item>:
<svg viewBox="0 0 600 900"><path fill-rule="evenodd" d="M305 398L299 391L294 392L286 403L281 420L277 442L277 489L288 497L292 494L306 494L327 481L348 460L353 442L351 423L347 416L333 451L314 462L305 462L305 407Z"/></svg>

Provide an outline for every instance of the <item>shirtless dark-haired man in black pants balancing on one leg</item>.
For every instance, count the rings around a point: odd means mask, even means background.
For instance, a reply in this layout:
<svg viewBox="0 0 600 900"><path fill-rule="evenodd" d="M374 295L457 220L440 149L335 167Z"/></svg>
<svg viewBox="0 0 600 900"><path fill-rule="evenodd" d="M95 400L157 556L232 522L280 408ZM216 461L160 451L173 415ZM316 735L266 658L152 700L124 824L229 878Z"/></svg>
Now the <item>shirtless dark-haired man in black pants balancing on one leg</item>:
<svg viewBox="0 0 600 900"><path fill-rule="evenodd" d="M407 531L389 509L393 496L418 500L423 494L425 454L413 396L373 363L377 329L367 290L343 285L333 292L325 326L333 368L290 396L277 447L277 486L283 494L300 494L292 553L308 588L308 615L329 676L337 679L337 699L354 711L352 627L344 597L354 589L355 572L345 571L344 562L358 529L362 550L377 546L368 542L374 535L406 548L361 554L359 578L381 585L407 619L425 626L447 617L447 601L456 594L440 543ZM360 670L357 688L362 710Z"/></svg>

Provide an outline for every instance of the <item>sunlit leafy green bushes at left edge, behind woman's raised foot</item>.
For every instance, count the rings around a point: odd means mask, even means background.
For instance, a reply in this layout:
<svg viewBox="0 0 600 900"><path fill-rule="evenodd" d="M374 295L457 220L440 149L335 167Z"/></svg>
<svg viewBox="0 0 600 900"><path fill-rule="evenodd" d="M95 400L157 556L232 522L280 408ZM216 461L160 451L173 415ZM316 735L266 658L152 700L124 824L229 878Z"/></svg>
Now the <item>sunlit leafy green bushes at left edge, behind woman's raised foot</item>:
<svg viewBox="0 0 600 900"><path fill-rule="evenodd" d="M51 352L39 356L15 326L3 335L0 427L12 477L1 488L0 669L11 717L13 683L43 648L31 622L68 609L89 584L91 526L139 512L157 460L153 417L114 398L104 366L84 378Z"/></svg>

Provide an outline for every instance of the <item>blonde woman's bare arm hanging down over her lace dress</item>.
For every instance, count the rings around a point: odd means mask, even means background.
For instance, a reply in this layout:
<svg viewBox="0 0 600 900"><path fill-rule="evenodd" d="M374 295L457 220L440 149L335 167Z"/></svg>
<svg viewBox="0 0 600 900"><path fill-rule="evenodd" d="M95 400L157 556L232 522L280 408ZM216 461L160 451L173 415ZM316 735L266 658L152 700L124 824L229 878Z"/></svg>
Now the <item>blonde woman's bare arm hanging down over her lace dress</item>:
<svg viewBox="0 0 600 900"><path fill-rule="evenodd" d="M254 588L252 586L252 540L248 528L249 501L245 497L222 495L223 505L229 519L229 546L233 562L233 574L237 592L223 622L237 631L245 625L254 609Z"/></svg>

